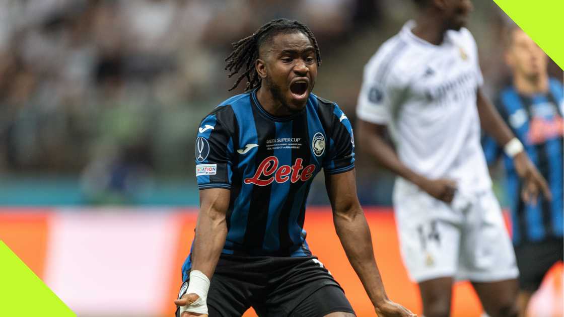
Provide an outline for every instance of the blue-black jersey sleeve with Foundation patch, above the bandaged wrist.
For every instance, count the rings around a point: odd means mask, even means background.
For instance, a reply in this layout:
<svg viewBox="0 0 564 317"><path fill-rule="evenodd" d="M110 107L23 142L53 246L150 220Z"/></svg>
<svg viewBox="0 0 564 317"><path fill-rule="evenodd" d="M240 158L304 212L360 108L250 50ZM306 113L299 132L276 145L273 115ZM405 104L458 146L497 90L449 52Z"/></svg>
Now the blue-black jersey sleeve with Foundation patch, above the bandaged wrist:
<svg viewBox="0 0 564 317"><path fill-rule="evenodd" d="M214 113L202 120L196 137L198 187L231 188L233 140Z"/></svg>

